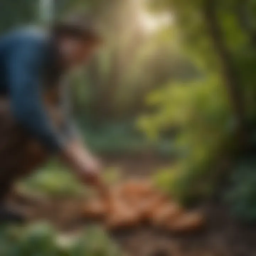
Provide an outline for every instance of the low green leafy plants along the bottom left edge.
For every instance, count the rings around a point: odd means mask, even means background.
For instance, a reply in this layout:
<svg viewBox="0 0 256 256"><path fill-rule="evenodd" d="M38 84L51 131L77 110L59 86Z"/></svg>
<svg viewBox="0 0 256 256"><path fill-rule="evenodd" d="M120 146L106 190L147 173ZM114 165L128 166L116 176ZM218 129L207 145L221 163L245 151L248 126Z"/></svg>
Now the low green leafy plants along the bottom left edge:
<svg viewBox="0 0 256 256"><path fill-rule="evenodd" d="M97 226L76 236L58 234L47 223L26 227L2 226L0 255L3 256L121 256L122 252Z"/></svg>

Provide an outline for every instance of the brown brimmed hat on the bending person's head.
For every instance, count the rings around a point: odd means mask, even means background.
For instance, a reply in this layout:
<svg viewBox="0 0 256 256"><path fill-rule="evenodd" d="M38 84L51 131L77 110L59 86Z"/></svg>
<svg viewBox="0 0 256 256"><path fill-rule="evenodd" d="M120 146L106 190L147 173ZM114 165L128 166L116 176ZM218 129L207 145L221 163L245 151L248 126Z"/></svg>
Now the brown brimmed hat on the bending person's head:
<svg viewBox="0 0 256 256"><path fill-rule="evenodd" d="M73 14L55 22L52 33L56 38L68 36L89 42L102 42L94 18L87 14Z"/></svg>

